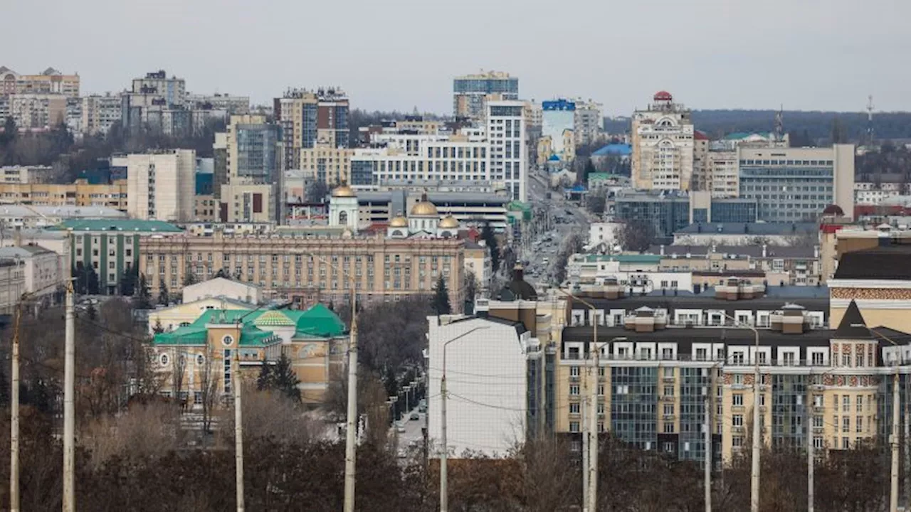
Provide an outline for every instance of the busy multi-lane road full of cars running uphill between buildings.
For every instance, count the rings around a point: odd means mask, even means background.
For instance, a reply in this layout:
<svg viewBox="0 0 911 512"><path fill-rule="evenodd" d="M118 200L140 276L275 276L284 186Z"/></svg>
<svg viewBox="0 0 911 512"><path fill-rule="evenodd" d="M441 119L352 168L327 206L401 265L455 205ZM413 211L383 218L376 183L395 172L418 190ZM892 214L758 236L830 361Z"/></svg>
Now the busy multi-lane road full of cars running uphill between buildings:
<svg viewBox="0 0 911 512"><path fill-rule="evenodd" d="M546 170L529 170L528 199L534 209L534 218L518 248L519 259L526 263L525 279L528 282L551 282L555 270L553 263L562 241L576 231L584 242L588 242L589 222L594 220L587 210L551 190L548 179Z"/></svg>

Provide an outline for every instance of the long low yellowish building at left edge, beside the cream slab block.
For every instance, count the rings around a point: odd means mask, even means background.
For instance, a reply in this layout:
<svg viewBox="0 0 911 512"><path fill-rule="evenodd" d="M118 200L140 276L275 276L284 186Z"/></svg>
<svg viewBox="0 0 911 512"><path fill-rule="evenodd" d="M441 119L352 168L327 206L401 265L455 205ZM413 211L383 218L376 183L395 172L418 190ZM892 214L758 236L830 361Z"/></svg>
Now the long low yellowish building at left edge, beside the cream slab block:
<svg viewBox="0 0 911 512"><path fill-rule="evenodd" d="M92 184L86 179L74 183L2 183L0 198L6 202L35 206L104 206L127 211L127 180Z"/></svg>

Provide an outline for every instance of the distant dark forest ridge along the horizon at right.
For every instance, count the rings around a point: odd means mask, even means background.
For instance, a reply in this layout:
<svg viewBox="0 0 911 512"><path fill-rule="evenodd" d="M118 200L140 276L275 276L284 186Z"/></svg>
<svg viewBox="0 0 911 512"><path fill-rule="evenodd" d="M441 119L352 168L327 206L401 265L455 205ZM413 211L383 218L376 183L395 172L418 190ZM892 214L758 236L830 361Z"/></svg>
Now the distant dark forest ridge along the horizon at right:
<svg viewBox="0 0 911 512"><path fill-rule="evenodd" d="M736 131L772 131L775 113L775 110L693 110L692 122L709 137L721 138ZM846 141L857 143L866 137L865 112L785 110L783 120L784 131L790 134L794 146L831 144L836 124ZM606 118L604 129L608 133L626 133L630 130L630 119ZM911 112L874 112L873 131L877 140L911 138Z"/></svg>

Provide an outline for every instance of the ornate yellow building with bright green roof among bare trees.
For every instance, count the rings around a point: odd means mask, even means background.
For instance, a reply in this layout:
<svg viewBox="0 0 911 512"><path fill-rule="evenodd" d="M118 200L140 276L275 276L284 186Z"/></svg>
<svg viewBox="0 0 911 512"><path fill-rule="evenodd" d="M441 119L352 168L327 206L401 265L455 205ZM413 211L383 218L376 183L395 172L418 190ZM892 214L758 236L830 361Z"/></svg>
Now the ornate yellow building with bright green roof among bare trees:
<svg viewBox="0 0 911 512"><path fill-rule="evenodd" d="M320 403L347 352L345 326L322 304L307 311L209 310L193 323L159 333L150 347L161 377L160 393L201 407L207 396L221 400L236 385L231 358L239 358L241 378L255 379L262 364L281 354L300 380L304 403Z"/></svg>

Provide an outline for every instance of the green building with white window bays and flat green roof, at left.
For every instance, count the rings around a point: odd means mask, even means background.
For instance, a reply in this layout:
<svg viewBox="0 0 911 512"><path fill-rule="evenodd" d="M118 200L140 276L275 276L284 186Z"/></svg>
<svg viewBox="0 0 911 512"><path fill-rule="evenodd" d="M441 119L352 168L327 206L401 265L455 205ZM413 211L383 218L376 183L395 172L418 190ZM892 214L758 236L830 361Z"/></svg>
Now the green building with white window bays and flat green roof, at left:
<svg viewBox="0 0 911 512"><path fill-rule="evenodd" d="M91 266L98 275L99 290L107 295L119 293L124 273L140 261L140 240L166 241L183 231L159 220L66 220L51 230L72 230L68 261L73 268ZM157 289L156 289L157 290Z"/></svg>

